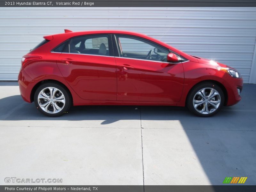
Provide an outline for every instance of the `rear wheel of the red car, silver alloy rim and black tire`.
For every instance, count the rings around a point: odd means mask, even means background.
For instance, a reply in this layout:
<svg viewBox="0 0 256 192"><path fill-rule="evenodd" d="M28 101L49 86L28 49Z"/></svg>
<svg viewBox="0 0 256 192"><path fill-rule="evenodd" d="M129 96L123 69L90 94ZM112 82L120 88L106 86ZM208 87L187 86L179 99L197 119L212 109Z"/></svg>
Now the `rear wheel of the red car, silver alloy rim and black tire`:
<svg viewBox="0 0 256 192"><path fill-rule="evenodd" d="M57 117L68 111L72 99L70 93L62 85L45 83L36 89L34 102L42 114Z"/></svg>

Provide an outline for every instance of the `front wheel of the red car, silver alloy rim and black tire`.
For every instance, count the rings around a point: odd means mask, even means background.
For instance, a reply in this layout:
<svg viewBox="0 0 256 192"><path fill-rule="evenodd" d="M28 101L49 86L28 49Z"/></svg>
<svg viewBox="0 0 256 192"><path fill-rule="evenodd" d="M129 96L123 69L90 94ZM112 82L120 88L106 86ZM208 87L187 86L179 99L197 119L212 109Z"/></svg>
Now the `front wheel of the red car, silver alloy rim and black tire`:
<svg viewBox="0 0 256 192"><path fill-rule="evenodd" d="M220 86L211 82L204 82L191 89L186 104L195 115L209 117L220 111L224 100L224 93Z"/></svg>

